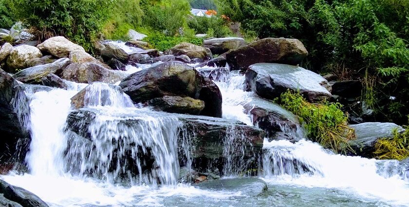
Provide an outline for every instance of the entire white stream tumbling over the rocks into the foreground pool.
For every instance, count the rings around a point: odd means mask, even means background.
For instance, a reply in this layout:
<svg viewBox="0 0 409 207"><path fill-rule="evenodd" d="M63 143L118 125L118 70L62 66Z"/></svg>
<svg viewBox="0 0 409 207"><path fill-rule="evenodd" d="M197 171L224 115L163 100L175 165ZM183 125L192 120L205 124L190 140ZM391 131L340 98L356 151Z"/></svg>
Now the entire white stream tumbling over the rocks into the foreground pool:
<svg viewBox="0 0 409 207"><path fill-rule="evenodd" d="M147 67L127 66L125 73ZM244 76L230 72L214 80L223 95L223 118L252 126L243 105L256 95L244 91ZM261 194L254 194L252 185L240 185L245 179L235 179L235 188L182 184L180 167L191 168L192 137L183 133L179 148L186 160L181 163L177 136L184 127L175 115L134 106L128 95L102 83L89 87L91 95L85 97L85 106L74 110L71 97L87 84L69 82L69 86L68 90L36 93L26 90L31 100L32 134L26 157L28 173L1 176L34 192L51 207L409 205L405 166L397 161L333 154L306 141L301 126L294 132L302 139L299 142L264 140L258 176L268 189ZM82 118L74 120L79 130L68 127L67 117L73 115ZM89 132L80 136L81 128ZM234 143L241 136L240 132L228 133L225 142L232 144L224 147L226 157L231 149L240 148ZM240 165L227 159L223 172L228 177L222 180L240 177Z"/></svg>

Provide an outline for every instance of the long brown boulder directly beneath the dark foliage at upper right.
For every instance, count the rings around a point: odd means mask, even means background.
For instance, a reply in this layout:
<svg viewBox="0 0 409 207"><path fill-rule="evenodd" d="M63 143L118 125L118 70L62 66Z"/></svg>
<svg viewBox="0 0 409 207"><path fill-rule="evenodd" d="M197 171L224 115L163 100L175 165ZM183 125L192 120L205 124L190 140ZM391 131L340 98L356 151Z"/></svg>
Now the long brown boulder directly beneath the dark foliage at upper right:
<svg viewBox="0 0 409 207"><path fill-rule="evenodd" d="M255 63L273 62L297 65L308 55L298 39L265 38L226 53L233 70L246 69Z"/></svg>

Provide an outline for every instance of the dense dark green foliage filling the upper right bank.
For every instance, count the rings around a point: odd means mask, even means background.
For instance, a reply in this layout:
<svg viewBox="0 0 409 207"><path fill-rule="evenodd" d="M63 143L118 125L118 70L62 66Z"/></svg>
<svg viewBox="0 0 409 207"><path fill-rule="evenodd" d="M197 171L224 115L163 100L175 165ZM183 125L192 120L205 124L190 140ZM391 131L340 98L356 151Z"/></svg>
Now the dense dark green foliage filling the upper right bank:
<svg viewBox="0 0 409 207"><path fill-rule="evenodd" d="M365 83L364 100L383 120L406 121L408 0L219 1L223 14L259 38L300 39L310 52L304 67L369 76L367 80L375 81Z"/></svg>

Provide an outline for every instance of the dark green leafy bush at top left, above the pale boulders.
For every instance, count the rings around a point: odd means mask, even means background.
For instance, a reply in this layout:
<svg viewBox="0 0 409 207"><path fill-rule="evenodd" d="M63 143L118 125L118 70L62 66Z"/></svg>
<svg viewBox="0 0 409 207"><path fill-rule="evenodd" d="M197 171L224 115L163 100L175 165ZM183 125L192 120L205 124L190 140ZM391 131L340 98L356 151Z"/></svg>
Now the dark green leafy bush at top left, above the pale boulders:
<svg viewBox="0 0 409 207"><path fill-rule="evenodd" d="M18 19L33 27L41 38L65 36L93 49L93 40L112 12L115 0L14 0Z"/></svg>

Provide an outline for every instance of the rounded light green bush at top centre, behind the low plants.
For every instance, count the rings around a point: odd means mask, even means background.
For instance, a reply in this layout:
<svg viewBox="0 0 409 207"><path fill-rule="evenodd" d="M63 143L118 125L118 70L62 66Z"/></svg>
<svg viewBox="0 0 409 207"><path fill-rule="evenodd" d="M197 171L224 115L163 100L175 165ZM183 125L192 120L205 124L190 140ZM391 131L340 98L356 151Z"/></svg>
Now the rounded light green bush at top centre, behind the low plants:
<svg viewBox="0 0 409 207"><path fill-rule="evenodd" d="M187 27L186 18L190 14L187 0L162 0L159 3L144 4L146 26L160 31L167 36L181 35Z"/></svg>

